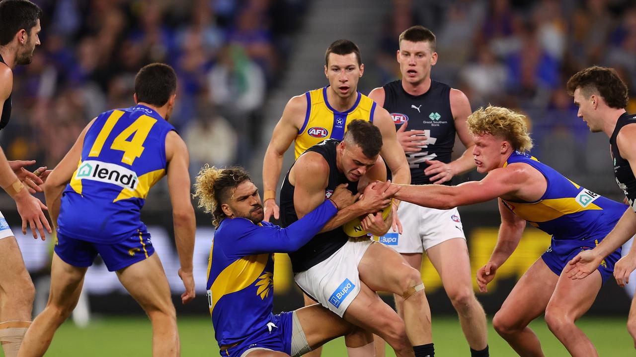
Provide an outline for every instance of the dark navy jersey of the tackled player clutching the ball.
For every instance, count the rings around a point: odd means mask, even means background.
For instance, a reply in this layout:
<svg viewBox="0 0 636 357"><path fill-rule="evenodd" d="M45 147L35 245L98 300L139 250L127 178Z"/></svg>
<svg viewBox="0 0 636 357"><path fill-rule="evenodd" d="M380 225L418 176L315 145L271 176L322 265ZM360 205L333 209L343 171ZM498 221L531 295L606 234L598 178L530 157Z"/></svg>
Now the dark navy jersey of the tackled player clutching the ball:
<svg viewBox="0 0 636 357"><path fill-rule="evenodd" d="M329 182L324 189L325 198L329 198L336 189L336 186L340 184L349 184L347 185L347 189L349 189L352 194L357 193L358 183L347 180L345 174L339 172L336 167L336 145L338 145L339 142L340 140L336 139L324 140L320 144L314 145L305 151L313 151L321 154L329 164ZM291 172L291 168L289 168L289 172ZM280 187L280 217L284 226L289 226L298 220L296 208L294 207L294 186L289 183L289 172L285 175L285 180L283 180L282 187ZM289 253L291 267L294 273L306 271L310 267L331 257L333 253L347 243L348 239L349 236L345 234L342 227L316 234L314 238L302 246L302 248L296 252Z"/></svg>

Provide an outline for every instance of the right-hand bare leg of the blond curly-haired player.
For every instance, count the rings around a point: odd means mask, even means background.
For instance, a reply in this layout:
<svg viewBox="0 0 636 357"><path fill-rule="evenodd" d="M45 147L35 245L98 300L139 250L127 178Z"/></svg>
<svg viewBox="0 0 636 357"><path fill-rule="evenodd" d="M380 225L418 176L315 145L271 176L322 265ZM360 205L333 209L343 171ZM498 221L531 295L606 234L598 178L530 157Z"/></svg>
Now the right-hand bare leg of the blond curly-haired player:
<svg viewBox="0 0 636 357"><path fill-rule="evenodd" d="M567 351L576 356L598 356L597 350L574 322L590 309L602 285L597 271L581 280L561 274L546 307L546 323Z"/></svg>

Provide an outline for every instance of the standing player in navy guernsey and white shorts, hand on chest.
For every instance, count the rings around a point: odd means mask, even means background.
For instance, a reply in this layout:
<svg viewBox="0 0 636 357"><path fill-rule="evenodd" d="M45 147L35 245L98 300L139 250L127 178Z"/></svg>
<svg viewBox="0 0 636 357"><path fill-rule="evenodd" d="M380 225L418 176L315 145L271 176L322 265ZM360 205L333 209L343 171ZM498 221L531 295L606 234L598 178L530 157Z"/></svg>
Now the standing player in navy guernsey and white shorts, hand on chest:
<svg viewBox="0 0 636 357"><path fill-rule="evenodd" d="M468 98L462 91L431 79L432 66L438 60L435 41L435 35L425 27L405 30L399 36L397 51L402 79L369 94L391 113L411 169L411 184L417 185L449 185L454 175L475 167L473 139L466 128L471 114ZM467 149L451 161L455 134ZM466 236L457 208L437 210L403 202L397 216L401 229L380 237L380 241L402 253L418 270L426 252L459 314L471 354L488 356L486 315L474 296ZM403 316L402 299L396 295L395 300ZM384 346L377 346L376 352L384 355Z"/></svg>

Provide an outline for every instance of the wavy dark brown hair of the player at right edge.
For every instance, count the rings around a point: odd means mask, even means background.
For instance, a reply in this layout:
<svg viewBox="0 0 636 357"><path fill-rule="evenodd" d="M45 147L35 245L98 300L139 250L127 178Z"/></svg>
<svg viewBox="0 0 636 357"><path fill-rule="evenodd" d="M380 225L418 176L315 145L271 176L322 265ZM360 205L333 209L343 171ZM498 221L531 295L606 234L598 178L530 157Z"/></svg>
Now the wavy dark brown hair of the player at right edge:
<svg viewBox="0 0 636 357"><path fill-rule="evenodd" d="M590 98L594 93L600 94L611 108L627 107L627 86L613 68L595 65L577 72L567 81L567 92L574 95L576 88L581 88L585 98Z"/></svg>

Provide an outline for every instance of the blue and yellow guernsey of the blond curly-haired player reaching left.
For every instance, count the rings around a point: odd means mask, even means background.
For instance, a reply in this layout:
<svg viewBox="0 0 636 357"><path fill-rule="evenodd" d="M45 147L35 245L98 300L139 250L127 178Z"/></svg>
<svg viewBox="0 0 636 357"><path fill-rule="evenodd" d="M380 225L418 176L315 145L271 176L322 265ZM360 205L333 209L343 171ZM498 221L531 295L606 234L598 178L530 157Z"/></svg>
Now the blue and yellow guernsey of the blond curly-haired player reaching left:
<svg viewBox="0 0 636 357"><path fill-rule="evenodd" d="M510 210L553 239L584 239L616 224L627 206L584 189L529 154L513 152L507 165L526 163L546 178L548 186L536 202L504 199ZM611 227L609 227L611 229Z"/></svg>

